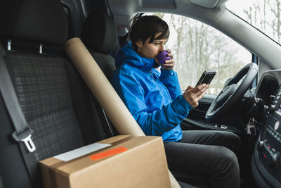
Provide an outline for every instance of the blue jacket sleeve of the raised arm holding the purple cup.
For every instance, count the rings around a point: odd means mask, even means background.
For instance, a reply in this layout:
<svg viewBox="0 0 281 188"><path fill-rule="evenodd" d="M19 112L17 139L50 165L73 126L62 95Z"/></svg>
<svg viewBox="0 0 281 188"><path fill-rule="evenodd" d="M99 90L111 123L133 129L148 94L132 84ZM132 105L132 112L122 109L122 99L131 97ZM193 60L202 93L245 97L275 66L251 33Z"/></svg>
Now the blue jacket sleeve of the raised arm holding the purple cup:
<svg viewBox="0 0 281 188"><path fill-rule="evenodd" d="M182 94L180 82L178 81L178 75L176 72L174 72L174 70L161 69L161 75L159 79L168 89L172 100L176 99Z"/></svg>

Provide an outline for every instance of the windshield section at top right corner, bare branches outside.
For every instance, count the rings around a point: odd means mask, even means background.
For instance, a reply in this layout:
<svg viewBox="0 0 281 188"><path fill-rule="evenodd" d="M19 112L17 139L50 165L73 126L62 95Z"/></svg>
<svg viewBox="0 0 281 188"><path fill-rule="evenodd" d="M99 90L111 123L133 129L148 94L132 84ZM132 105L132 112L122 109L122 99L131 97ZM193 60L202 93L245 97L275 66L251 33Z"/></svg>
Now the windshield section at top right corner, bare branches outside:
<svg viewBox="0 0 281 188"><path fill-rule="evenodd" d="M226 8L281 44L281 0L228 0Z"/></svg>

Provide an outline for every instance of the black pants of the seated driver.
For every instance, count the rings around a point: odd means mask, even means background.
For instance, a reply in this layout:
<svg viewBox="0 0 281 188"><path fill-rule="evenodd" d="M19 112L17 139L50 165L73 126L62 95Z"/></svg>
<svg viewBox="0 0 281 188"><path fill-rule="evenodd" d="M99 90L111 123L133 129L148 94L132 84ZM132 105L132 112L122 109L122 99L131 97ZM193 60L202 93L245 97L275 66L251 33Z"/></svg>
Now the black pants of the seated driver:
<svg viewBox="0 0 281 188"><path fill-rule="evenodd" d="M240 138L224 131L183 131L183 139L164 144L169 169L184 179L200 177L210 187L240 187L240 170L235 155ZM196 179L196 178L195 178ZM197 179L198 181L198 179Z"/></svg>

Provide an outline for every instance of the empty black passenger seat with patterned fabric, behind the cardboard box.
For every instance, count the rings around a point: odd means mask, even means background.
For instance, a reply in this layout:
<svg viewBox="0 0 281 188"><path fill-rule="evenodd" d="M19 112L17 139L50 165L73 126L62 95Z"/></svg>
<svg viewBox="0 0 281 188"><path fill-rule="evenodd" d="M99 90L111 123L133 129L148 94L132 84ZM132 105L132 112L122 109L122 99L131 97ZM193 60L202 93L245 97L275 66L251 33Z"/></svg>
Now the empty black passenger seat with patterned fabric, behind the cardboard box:
<svg viewBox="0 0 281 188"><path fill-rule="evenodd" d="M15 129L1 94L0 177L4 187L42 187L37 161L110 135L91 92L65 58L67 21L60 1L5 0L0 15L4 63L36 146L24 153L34 158L28 173L19 147L25 145L11 136Z"/></svg>

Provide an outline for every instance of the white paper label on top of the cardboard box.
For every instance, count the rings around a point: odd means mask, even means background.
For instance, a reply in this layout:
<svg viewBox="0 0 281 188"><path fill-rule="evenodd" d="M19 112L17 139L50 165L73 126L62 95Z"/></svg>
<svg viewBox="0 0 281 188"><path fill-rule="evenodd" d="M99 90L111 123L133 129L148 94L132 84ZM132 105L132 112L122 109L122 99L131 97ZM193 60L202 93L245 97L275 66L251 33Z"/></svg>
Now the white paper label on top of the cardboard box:
<svg viewBox="0 0 281 188"><path fill-rule="evenodd" d="M70 161L74 158L77 158L79 156L84 156L88 153L91 153L93 151L97 151L99 149L103 149L105 147L111 146L111 144L100 144L100 143L93 143L88 146L81 147L79 149L74 149L72 151L67 151L65 153L62 153L58 156L54 156L54 158L58 158L60 161Z"/></svg>

